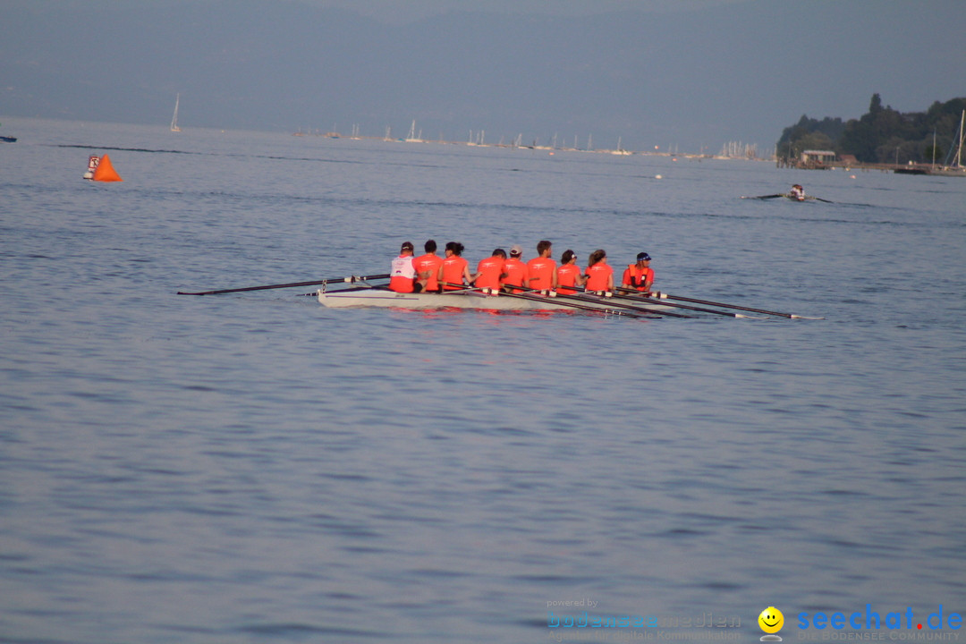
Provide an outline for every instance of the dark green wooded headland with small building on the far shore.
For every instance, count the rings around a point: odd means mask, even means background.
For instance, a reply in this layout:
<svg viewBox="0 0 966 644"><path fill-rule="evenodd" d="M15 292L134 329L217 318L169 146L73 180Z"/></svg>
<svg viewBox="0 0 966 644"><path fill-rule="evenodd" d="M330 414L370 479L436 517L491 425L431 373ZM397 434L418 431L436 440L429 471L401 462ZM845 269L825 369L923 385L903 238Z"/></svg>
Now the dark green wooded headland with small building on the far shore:
<svg viewBox="0 0 966 644"><path fill-rule="evenodd" d="M956 145L966 98L932 103L925 112L894 110L882 106L882 98L872 95L868 112L859 119L842 122L825 117L821 121L807 115L781 132L777 154L782 160L799 158L805 150L831 150L851 154L861 163L943 163ZM934 142L935 141L935 142Z"/></svg>

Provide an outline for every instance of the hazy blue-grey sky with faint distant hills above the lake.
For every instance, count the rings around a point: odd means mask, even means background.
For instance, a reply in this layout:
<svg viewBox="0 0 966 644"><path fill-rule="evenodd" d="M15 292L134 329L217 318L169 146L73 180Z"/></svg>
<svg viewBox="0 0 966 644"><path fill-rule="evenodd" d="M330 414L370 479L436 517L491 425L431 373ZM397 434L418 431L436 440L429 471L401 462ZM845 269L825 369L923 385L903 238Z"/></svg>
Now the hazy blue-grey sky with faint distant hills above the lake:
<svg viewBox="0 0 966 644"><path fill-rule="evenodd" d="M966 0L0 0L0 117L770 152L966 96ZM5 126L6 129L6 126Z"/></svg>

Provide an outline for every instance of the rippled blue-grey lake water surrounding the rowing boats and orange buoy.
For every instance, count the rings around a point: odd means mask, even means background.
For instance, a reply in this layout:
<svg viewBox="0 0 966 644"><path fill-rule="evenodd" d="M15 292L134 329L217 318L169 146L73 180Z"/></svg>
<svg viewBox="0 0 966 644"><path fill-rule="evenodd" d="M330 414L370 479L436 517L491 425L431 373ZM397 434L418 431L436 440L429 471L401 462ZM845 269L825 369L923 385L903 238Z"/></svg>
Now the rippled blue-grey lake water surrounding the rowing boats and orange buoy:
<svg viewBox="0 0 966 644"><path fill-rule="evenodd" d="M0 641L966 613L966 180L2 121ZM103 153L124 182L82 181ZM835 203L740 199L793 182ZM824 320L176 294L426 238L646 250L665 292ZM659 628L551 628L584 611Z"/></svg>

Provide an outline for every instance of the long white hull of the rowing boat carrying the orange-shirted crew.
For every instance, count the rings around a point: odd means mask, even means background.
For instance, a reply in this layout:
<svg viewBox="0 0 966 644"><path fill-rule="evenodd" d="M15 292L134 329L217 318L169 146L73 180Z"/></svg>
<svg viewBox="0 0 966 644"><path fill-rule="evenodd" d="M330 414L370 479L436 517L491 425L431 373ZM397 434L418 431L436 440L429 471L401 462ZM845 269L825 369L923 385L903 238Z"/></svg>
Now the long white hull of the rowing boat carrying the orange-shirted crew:
<svg viewBox="0 0 966 644"><path fill-rule="evenodd" d="M380 306L399 309L486 309L497 311L574 311L584 308L594 311L620 311L621 305L598 295L567 295L557 299L548 295L483 294L475 290L447 293L395 293L386 289L343 289L318 291L319 302L330 308ZM656 312L669 311L660 304L642 302Z"/></svg>

